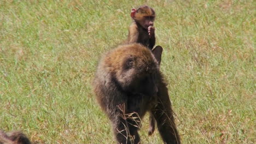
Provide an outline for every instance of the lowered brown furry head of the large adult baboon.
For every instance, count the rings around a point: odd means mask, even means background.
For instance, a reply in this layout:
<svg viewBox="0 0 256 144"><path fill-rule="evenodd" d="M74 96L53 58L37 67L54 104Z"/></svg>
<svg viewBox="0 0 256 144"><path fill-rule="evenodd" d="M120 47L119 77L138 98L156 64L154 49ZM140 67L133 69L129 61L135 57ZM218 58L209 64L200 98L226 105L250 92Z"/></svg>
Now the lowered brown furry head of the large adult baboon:
<svg viewBox="0 0 256 144"><path fill-rule="evenodd" d="M155 95L158 92L159 60L141 44L121 45L114 55L111 65L113 78L120 88L129 93Z"/></svg>

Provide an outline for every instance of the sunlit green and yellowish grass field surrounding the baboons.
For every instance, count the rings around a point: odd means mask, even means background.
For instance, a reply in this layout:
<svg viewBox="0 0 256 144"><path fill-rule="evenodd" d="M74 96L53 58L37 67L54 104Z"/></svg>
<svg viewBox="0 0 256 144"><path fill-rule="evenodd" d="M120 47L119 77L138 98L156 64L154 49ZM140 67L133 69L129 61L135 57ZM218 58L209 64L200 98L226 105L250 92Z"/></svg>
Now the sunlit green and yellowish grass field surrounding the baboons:
<svg viewBox="0 0 256 144"><path fill-rule="evenodd" d="M142 4L156 11L182 142L255 143L253 0L0 1L0 129L37 143L114 143L91 83ZM148 116L142 124L143 143L162 143L158 131L148 137Z"/></svg>

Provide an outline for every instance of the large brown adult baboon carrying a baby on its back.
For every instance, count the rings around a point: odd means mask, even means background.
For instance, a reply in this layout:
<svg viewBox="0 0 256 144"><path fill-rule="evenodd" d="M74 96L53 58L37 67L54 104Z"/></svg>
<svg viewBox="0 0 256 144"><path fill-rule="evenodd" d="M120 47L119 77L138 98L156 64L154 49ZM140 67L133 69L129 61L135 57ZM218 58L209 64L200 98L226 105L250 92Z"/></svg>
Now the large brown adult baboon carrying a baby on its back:
<svg viewBox="0 0 256 144"><path fill-rule="evenodd" d="M165 143L181 143L174 124L168 89L159 71L161 50L141 44L120 45L98 64L94 92L112 122L118 143L139 143L138 129L145 113L156 119Z"/></svg>

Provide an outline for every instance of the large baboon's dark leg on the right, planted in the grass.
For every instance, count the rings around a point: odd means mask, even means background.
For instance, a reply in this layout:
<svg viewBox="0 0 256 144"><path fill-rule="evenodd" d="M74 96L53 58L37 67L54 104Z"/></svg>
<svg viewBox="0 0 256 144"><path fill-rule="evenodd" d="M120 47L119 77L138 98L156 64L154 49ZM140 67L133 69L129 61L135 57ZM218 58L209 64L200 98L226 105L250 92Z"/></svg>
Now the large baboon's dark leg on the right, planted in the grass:
<svg viewBox="0 0 256 144"><path fill-rule="evenodd" d="M180 144L181 140L174 123L171 101L164 83L160 83L158 91L158 105L153 110L159 133L167 144Z"/></svg>

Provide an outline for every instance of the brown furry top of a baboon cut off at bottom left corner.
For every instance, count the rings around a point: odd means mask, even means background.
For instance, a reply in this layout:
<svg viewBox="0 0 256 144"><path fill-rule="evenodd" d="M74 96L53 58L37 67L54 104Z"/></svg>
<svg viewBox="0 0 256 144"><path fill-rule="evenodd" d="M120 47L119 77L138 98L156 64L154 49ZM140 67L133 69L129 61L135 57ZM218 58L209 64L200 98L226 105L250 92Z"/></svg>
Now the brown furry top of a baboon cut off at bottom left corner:
<svg viewBox="0 0 256 144"><path fill-rule="evenodd" d="M0 144L30 144L27 136L21 131L11 131L9 133L4 133L0 130Z"/></svg>

